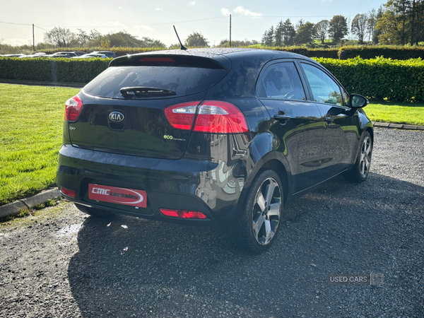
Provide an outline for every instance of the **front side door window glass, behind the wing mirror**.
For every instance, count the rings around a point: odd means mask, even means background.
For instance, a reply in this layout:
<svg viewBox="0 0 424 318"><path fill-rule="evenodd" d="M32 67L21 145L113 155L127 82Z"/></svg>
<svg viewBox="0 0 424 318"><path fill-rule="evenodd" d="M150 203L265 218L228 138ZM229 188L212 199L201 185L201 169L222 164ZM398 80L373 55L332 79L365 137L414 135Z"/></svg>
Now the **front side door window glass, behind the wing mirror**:
<svg viewBox="0 0 424 318"><path fill-rule="evenodd" d="M343 105L343 98L338 84L324 71L310 64L301 63L307 81L310 83L315 102L331 105Z"/></svg>

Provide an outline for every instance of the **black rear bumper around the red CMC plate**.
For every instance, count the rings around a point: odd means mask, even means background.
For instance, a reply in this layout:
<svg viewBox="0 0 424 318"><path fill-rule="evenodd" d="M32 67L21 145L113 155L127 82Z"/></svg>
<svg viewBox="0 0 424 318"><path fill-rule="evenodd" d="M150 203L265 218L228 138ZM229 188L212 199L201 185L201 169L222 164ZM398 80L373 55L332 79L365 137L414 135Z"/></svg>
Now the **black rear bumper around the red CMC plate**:
<svg viewBox="0 0 424 318"><path fill-rule="evenodd" d="M75 191L75 198L66 199L78 204L165 222L216 225L232 218L242 192L244 178L232 175L233 168L220 160L142 158L64 145L59 151L57 184ZM146 191L147 208L90 200L90 183ZM171 218L163 216L160 208L199 211L207 218Z"/></svg>

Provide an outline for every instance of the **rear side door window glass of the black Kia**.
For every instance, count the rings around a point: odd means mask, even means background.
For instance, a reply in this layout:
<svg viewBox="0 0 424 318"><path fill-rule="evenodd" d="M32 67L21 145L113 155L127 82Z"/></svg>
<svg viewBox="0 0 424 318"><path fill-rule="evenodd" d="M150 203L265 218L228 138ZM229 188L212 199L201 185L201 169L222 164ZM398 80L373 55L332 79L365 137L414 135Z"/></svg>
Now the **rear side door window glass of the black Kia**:
<svg viewBox="0 0 424 318"><path fill-rule="evenodd" d="M281 62L269 66L259 78L257 96L278 100L306 100L295 64Z"/></svg>

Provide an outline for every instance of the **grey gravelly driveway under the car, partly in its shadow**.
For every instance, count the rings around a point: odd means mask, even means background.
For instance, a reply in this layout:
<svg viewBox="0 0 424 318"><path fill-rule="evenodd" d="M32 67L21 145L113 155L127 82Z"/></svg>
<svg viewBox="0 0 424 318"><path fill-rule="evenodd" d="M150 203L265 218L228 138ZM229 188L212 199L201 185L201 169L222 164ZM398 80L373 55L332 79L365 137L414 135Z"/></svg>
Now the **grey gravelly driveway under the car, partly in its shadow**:
<svg viewBox="0 0 424 318"><path fill-rule="evenodd" d="M261 255L219 228L95 220L69 203L3 223L0 317L424 317L424 132L375 134L367 182L290 204Z"/></svg>

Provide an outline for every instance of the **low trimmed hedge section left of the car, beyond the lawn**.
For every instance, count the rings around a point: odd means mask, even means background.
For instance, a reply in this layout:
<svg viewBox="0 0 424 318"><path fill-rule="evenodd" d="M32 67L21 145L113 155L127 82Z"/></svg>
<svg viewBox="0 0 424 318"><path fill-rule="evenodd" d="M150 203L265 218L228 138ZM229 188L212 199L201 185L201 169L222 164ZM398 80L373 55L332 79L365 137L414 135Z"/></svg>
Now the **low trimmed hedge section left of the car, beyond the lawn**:
<svg viewBox="0 0 424 318"><path fill-rule="evenodd" d="M21 81L88 83L105 71L111 60L0 57L0 78Z"/></svg>

